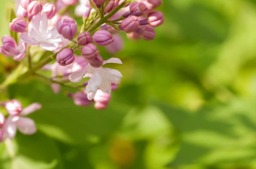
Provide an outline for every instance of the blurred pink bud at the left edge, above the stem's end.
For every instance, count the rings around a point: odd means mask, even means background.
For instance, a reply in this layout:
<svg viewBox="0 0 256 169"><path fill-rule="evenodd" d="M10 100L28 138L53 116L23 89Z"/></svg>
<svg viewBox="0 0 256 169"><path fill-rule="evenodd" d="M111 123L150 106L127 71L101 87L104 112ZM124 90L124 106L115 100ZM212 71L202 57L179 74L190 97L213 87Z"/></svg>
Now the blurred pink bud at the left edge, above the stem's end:
<svg viewBox="0 0 256 169"><path fill-rule="evenodd" d="M17 43L10 35L5 35L2 37L2 51L1 53L5 56L12 56L12 54L16 51Z"/></svg>

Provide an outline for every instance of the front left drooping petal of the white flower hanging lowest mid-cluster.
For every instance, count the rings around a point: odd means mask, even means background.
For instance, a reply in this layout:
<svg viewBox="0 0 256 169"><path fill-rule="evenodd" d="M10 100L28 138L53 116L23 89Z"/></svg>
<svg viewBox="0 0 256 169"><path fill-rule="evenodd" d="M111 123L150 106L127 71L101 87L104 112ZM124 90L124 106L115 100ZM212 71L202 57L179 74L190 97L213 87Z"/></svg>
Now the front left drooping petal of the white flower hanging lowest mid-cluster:
<svg viewBox="0 0 256 169"><path fill-rule="evenodd" d="M97 90L101 85L101 83L102 83L102 76L96 71L88 81L88 85L86 86L87 93Z"/></svg>

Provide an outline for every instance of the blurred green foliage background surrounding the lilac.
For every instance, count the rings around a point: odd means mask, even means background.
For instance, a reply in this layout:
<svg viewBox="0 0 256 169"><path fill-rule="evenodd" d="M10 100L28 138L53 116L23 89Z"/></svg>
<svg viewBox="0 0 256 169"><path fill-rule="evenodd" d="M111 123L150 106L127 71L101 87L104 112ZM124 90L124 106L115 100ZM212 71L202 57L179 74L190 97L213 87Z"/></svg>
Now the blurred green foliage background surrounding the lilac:
<svg viewBox="0 0 256 169"><path fill-rule="evenodd" d="M0 2L2 37L9 0ZM159 10L154 41L123 36L107 110L38 81L9 87L43 108L30 115L38 132L10 143L13 155L0 144L0 169L255 169L256 1L164 0Z"/></svg>

